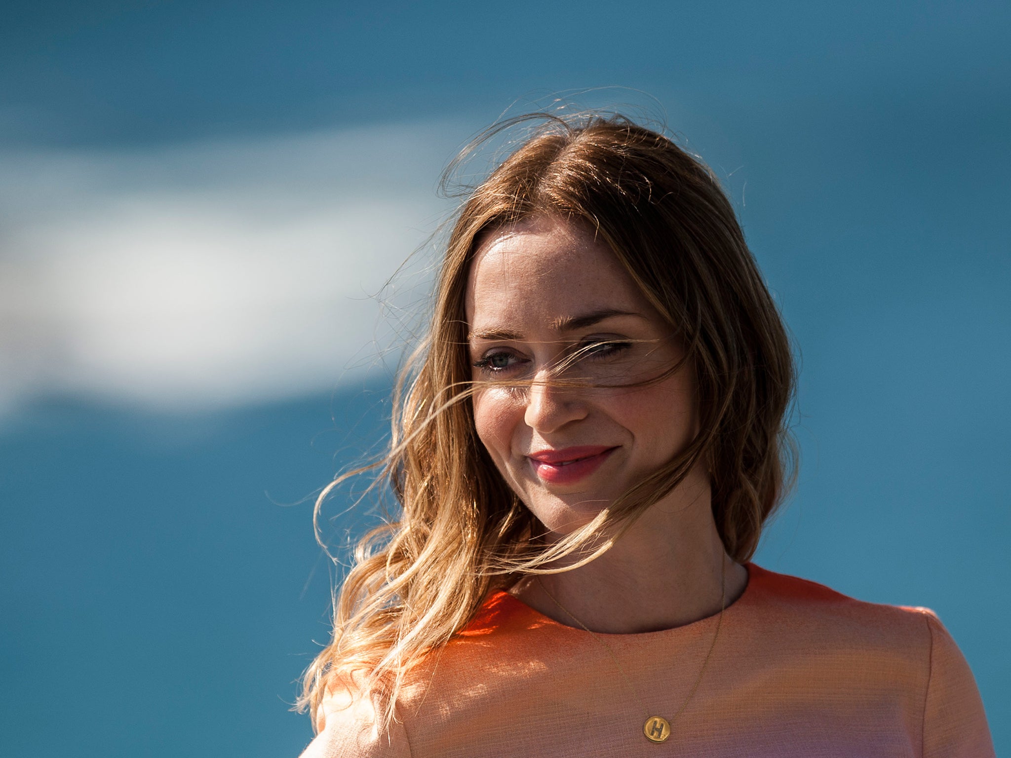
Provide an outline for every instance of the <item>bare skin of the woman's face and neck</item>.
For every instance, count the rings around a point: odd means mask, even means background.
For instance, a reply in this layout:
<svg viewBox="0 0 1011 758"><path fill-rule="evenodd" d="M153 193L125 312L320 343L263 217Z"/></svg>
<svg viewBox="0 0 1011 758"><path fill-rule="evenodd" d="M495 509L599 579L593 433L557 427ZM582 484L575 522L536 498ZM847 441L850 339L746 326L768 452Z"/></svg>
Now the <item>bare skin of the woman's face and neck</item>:
<svg viewBox="0 0 1011 758"><path fill-rule="evenodd" d="M478 437L549 539L592 519L696 434L691 367L664 376L682 358L674 330L582 226L537 216L488 235L466 315L472 377L494 382L473 398ZM719 612L723 556L696 467L605 555L542 581L593 631L669 629ZM727 559L728 603L746 582ZM574 625L537 582L513 592Z"/></svg>

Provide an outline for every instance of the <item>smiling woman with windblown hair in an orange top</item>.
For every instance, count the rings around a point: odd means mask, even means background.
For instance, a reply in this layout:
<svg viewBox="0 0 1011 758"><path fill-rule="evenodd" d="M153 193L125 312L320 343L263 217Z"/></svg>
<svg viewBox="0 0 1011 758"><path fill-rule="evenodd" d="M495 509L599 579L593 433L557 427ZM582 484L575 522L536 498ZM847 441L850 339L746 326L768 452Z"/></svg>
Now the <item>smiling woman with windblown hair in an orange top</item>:
<svg viewBox="0 0 1011 758"><path fill-rule="evenodd" d="M748 562L790 345L669 139L546 118L463 206L413 366L306 756L992 755L929 610Z"/></svg>

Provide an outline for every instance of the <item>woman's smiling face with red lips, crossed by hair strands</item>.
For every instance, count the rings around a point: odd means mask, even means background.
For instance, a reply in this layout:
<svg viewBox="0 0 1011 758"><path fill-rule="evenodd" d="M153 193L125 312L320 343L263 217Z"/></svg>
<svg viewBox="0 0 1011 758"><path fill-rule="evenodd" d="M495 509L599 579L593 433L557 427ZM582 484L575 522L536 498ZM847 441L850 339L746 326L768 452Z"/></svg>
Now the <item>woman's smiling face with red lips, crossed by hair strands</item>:
<svg viewBox="0 0 1011 758"><path fill-rule="evenodd" d="M581 226L537 216L490 234L466 314L472 378L500 382L474 394L477 435L553 533L588 523L693 439L691 370L649 381L681 358L678 342Z"/></svg>

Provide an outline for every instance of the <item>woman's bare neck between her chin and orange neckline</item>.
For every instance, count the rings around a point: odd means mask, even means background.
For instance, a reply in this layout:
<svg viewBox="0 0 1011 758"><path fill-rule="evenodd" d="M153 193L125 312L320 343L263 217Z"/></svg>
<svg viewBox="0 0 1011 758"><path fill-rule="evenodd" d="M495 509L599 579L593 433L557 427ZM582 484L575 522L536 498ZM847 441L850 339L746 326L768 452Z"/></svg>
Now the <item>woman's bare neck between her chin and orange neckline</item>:
<svg viewBox="0 0 1011 758"><path fill-rule="evenodd" d="M637 634L718 613L724 591L729 605L746 584L747 570L724 552L713 520L708 480L690 475L604 555L577 569L542 575L540 582L528 577L512 592L570 627L581 622L592 632Z"/></svg>

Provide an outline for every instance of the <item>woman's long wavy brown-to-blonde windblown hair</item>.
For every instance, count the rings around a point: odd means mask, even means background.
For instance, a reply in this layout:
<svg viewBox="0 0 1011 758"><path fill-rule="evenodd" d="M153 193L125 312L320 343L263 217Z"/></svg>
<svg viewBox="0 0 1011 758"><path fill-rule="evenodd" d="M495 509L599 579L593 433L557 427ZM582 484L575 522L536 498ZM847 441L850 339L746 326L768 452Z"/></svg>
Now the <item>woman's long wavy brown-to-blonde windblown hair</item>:
<svg viewBox="0 0 1011 758"><path fill-rule="evenodd" d="M696 464L709 471L716 526L739 562L792 482L790 342L713 173L623 116L537 117L450 234L431 328L394 391L384 476L399 512L359 545L335 601L333 641L306 671L300 704L316 724L327 692L350 689L377 698L388 726L405 673L459 632L489 590L576 551L575 565L591 560ZM673 460L547 546L477 438L464 313L480 242L537 215L582 224L610 246L681 340L700 417Z"/></svg>

